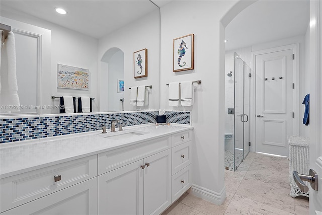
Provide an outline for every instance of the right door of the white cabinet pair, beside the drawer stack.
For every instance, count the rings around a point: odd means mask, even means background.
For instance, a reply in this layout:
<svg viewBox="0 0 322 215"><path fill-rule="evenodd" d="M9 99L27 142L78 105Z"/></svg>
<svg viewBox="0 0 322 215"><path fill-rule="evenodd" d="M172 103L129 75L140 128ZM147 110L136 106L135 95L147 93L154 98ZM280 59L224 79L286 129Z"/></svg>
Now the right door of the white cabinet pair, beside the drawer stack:
<svg viewBox="0 0 322 215"><path fill-rule="evenodd" d="M144 159L144 214L159 214L171 204L171 150Z"/></svg>

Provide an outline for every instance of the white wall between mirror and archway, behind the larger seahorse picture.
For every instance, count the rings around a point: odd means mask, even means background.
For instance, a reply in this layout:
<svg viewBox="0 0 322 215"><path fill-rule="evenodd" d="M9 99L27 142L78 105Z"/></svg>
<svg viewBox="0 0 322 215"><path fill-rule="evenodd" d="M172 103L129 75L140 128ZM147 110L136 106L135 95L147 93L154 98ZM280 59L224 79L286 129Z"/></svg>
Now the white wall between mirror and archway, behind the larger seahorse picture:
<svg viewBox="0 0 322 215"><path fill-rule="evenodd" d="M168 105L167 83L202 81L194 92L191 114L195 133L191 192L217 204L225 198L224 28L220 20L234 4L233 1L174 1L160 10L160 106L168 110L184 109ZM173 39L191 33L195 35L194 69L174 73Z"/></svg>

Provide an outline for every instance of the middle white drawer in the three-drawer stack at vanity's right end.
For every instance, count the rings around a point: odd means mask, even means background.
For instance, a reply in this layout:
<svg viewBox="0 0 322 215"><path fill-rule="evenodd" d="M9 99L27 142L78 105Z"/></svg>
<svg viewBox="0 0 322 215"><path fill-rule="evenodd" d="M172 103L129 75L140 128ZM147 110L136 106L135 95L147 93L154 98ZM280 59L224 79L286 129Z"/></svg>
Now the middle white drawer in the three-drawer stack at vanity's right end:
<svg viewBox="0 0 322 215"><path fill-rule="evenodd" d="M172 148L172 175L191 164L192 141Z"/></svg>

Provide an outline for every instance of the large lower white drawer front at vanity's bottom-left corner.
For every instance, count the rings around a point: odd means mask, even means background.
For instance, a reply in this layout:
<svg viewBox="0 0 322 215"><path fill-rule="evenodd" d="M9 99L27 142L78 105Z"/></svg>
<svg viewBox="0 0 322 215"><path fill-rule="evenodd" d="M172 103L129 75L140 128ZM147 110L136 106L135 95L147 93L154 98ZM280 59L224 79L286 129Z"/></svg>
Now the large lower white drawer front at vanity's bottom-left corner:
<svg viewBox="0 0 322 215"><path fill-rule="evenodd" d="M97 177L7 210L2 214L97 214Z"/></svg>

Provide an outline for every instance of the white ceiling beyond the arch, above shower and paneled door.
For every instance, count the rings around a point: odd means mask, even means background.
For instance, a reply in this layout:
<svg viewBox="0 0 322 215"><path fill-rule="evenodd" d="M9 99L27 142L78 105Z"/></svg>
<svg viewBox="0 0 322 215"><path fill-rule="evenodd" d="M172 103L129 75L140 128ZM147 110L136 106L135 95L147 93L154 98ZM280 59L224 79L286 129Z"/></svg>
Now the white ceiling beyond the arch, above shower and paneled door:
<svg viewBox="0 0 322 215"><path fill-rule="evenodd" d="M304 35L309 1L258 1L240 12L226 27L226 50Z"/></svg>

